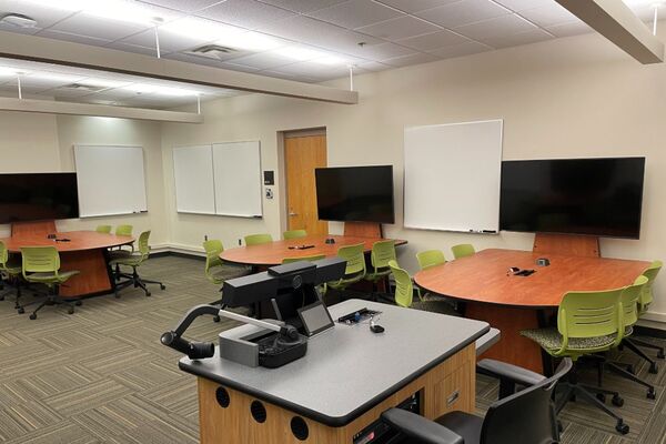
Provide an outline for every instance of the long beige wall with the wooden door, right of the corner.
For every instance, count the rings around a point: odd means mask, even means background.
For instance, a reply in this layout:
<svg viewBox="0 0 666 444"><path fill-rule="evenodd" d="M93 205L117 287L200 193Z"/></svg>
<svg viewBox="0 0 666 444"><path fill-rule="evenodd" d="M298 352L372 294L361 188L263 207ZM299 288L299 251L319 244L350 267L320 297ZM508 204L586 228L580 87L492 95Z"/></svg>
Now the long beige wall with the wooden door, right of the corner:
<svg viewBox="0 0 666 444"><path fill-rule="evenodd" d="M346 82L333 84L344 88ZM232 246L251 232L279 236L284 205L278 184L275 199L264 199L262 221L176 214L173 147L260 140L263 169L279 170L279 131L326 127L330 165L394 165L397 223L386 225L385 233L410 241L400 250L401 263L408 269L416 269L415 252L440 248L451 256L451 245L462 242L478 249L531 249L531 234L478 235L402 226L404 127L502 118L504 159L646 155L642 239L603 239L602 251L615 258L665 256L664 65L640 65L602 37L589 34L361 75L355 87L361 99L353 107L254 94L204 103L202 125L163 124L172 242L199 248L209 234ZM666 281L656 290L657 296L666 293ZM666 321L666 300L655 303L653 311Z"/></svg>

